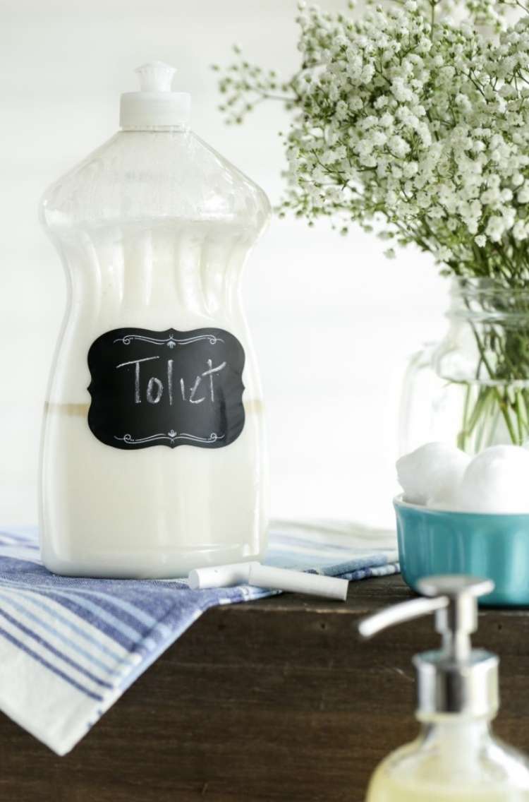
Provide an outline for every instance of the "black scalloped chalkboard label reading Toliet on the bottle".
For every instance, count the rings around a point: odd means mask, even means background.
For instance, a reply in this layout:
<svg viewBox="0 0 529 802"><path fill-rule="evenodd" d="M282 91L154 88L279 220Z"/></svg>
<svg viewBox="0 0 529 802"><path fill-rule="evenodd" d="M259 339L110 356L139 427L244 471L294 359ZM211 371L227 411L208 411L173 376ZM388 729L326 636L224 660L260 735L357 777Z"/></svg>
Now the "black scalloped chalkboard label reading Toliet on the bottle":
<svg viewBox="0 0 529 802"><path fill-rule="evenodd" d="M244 349L223 329L114 329L88 351L88 425L102 443L223 448L244 427Z"/></svg>

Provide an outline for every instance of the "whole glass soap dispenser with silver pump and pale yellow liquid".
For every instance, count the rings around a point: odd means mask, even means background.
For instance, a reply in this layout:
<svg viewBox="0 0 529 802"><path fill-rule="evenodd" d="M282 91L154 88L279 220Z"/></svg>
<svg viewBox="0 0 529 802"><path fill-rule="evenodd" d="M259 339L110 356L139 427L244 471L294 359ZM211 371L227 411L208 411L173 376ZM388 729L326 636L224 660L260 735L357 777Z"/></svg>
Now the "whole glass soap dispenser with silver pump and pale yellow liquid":
<svg viewBox="0 0 529 802"><path fill-rule="evenodd" d="M525 755L495 739L491 720L499 707L495 654L472 649L478 597L490 580L465 576L427 577L418 582L426 598L415 598L365 618L370 638L388 626L435 614L439 650L414 657L417 671L418 738L382 760L366 802L522 802L529 800Z"/></svg>

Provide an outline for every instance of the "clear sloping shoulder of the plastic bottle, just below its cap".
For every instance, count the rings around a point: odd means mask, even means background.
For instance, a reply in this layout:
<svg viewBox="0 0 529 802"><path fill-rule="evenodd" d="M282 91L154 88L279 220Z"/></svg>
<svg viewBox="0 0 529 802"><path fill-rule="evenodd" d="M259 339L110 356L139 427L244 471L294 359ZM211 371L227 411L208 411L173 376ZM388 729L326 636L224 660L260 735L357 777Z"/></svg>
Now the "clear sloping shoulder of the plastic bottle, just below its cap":
<svg viewBox="0 0 529 802"><path fill-rule="evenodd" d="M193 132L118 132L46 189L44 225L98 218L201 215L262 228L263 190Z"/></svg>

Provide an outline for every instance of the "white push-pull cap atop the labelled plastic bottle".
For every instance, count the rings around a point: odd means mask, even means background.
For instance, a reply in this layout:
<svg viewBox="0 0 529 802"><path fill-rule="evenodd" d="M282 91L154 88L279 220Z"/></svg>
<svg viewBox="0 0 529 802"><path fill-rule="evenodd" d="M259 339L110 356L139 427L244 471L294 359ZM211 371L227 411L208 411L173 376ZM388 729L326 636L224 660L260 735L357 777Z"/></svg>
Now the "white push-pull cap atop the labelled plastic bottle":
<svg viewBox="0 0 529 802"><path fill-rule="evenodd" d="M175 68L161 61L138 67L139 92L126 92L119 103L121 128L145 130L159 127L188 128L191 95L173 92Z"/></svg>

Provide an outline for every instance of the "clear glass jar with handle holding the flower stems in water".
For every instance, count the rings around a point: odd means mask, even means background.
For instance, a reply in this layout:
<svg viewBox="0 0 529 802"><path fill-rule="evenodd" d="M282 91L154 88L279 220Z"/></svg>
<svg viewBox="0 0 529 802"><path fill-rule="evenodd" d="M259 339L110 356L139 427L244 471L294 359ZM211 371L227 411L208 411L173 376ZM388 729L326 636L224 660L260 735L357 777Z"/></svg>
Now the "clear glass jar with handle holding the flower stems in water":
<svg viewBox="0 0 529 802"><path fill-rule="evenodd" d="M446 337L406 371L399 451L442 440L469 454L529 439L529 285L454 279Z"/></svg>

